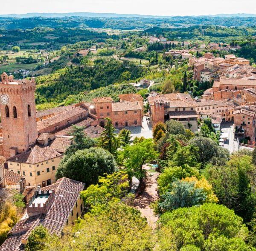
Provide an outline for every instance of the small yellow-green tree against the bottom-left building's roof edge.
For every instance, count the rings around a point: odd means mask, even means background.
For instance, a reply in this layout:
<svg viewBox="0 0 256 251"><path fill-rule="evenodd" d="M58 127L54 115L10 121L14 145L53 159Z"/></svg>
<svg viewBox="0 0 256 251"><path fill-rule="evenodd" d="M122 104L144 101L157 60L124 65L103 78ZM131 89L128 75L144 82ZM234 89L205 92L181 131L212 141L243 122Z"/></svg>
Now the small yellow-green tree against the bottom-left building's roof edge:
<svg viewBox="0 0 256 251"><path fill-rule="evenodd" d="M39 225L35 229L31 231L28 237L28 242L26 244L25 250L26 251L41 251L46 248L46 241L47 241L47 229Z"/></svg>

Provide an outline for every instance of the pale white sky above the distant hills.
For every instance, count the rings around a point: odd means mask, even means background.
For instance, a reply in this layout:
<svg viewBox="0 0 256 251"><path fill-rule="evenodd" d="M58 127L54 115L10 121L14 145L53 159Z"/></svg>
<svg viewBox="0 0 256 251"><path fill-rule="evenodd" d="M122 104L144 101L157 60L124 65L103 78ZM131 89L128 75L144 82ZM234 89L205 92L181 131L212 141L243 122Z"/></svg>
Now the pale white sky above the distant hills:
<svg viewBox="0 0 256 251"><path fill-rule="evenodd" d="M0 14L97 12L145 15L256 14L256 0L1 0Z"/></svg>

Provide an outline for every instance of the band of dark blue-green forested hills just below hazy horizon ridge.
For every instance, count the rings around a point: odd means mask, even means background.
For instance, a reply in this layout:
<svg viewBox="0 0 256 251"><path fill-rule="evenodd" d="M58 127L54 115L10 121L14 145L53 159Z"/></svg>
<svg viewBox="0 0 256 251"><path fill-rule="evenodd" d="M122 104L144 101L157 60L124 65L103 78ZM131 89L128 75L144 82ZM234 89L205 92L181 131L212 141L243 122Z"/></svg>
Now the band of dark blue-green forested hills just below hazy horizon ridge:
<svg viewBox="0 0 256 251"><path fill-rule="evenodd" d="M0 29L49 28L111 28L148 29L187 27L193 25L255 26L256 17L0 17Z"/></svg>

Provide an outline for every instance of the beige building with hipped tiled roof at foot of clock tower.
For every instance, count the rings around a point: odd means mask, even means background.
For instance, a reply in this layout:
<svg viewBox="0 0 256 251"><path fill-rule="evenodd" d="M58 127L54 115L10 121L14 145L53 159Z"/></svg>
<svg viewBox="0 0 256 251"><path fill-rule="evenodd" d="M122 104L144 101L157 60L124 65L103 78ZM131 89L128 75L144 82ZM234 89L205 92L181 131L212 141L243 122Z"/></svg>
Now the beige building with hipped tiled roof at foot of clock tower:
<svg viewBox="0 0 256 251"><path fill-rule="evenodd" d="M7 163L9 170L23 175L28 185L45 187L55 183L55 171L61 158L53 148L36 144L30 151L11 157Z"/></svg>

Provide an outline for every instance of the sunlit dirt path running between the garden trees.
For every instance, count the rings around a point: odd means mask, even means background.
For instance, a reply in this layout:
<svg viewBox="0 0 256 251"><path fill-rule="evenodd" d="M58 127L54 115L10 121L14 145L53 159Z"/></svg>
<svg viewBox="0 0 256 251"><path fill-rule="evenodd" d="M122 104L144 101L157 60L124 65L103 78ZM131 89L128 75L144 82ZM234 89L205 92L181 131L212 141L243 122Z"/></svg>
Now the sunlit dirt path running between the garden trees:
<svg viewBox="0 0 256 251"><path fill-rule="evenodd" d="M158 199L158 175L158 172L151 173L147 171L147 182L145 190L134 200L134 207L140 210L141 214L147 218L148 224L152 228L156 227L156 222L158 220L158 217L154 215L153 209L150 208L150 204Z"/></svg>

